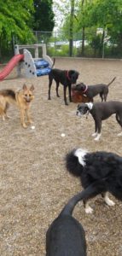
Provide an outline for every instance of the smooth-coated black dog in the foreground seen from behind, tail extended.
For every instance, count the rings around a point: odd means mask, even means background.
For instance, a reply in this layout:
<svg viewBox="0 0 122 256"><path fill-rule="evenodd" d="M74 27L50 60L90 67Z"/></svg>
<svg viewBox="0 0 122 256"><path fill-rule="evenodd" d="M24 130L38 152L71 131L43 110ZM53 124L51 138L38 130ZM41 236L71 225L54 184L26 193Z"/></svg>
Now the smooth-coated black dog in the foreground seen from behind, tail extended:
<svg viewBox="0 0 122 256"><path fill-rule="evenodd" d="M50 224L46 234L46 256L86 256L84 228L73 218L72 212L78 201L86 199L95 192L94 190L95 188L90 186L74 195L58 218Z"/></svg>

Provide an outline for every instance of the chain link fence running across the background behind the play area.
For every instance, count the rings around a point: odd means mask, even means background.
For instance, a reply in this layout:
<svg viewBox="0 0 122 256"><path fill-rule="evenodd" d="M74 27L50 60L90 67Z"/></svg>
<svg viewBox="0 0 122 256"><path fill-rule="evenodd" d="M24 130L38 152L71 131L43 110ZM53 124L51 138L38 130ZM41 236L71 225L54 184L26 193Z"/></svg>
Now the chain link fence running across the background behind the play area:
<svg viewBox="0 0 122 256"><path fill-rule="evenodd" d="M84 40L82 32L74 33L72 39L72 56L73 57L86 57L86 58L122 58L122 38L113 39L107 36L105 33L104 38L102 29L97 31L87 30L84 33ZM69 56L69 35L68 32L28 32L24 41L20 42L14 37L13 44L46 44L47 54L49 56ZM5 48L6 44L3 44L3 56L7 53L7 57L14 55L11 44ZM14 48L14 47L13 47ZM32 49L29 49L32 52ZM39 55L41 56L41 48L39 48ZM33 55L33 52L32 52Z"/></svg>

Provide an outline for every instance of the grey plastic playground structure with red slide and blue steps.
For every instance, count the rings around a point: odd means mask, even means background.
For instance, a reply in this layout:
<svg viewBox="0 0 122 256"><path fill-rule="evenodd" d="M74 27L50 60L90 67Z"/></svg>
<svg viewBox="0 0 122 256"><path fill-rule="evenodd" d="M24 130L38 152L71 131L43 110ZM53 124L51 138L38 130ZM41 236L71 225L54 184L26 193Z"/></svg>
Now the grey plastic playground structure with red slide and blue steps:
<svg viewBox="0 0 122 256"><path fill-rule="evenodd" d="M39 47L42 47L43 59L38 56ZM23 54L20 54L20 49L23 49ZM31 52L27 49L34 49L34 58L32 58ZM17 67L18 76L20 76L21 69L23 69L26 78L33 78L48 74L52 65L53 61L46 53L46 44L15 44L15 56L0 72L0 81L5 79L15 66Z"/></svg>

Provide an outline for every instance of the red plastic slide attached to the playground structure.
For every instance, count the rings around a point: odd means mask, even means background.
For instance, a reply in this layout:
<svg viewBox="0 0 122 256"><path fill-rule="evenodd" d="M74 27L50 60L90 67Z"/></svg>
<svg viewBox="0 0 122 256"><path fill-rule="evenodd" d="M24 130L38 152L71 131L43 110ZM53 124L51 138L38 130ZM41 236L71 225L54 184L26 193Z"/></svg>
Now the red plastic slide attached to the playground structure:
<svg viewBox="0 0 122 256"><path fill-rule="evenodd" d="M18 64L19 61L24 59L24 55L15 55L8 64L3 68L2 72L0 72L0 81L3 81L5 77L9 75L12 69Z"/></svg>

